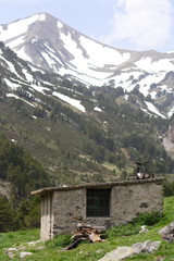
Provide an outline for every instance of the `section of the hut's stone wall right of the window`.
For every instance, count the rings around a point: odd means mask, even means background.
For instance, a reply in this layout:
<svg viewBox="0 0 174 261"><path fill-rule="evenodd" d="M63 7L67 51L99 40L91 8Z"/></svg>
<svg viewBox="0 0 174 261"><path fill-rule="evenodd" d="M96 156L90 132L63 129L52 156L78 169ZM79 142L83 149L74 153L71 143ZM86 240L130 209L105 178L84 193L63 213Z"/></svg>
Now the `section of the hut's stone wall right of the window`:
<svg viewBox="0 0 174 261"><path fill-rule="evenodd" d="M112 189L112 217L114 224L132 221L137 213L162 212L162 185L158 183L129 184Z"/></svg>

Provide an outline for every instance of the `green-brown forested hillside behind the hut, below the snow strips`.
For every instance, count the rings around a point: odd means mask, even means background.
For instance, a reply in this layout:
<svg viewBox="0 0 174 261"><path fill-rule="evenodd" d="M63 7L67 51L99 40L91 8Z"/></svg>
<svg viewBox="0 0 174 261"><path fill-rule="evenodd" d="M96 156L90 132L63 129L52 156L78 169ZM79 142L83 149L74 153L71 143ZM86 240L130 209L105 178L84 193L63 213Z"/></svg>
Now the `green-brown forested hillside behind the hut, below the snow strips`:
<svg viewBox="0 0 174 261"><path fill-rule="evenodd" d="M41 95L38 105L30 107L24 89L13 91L20 99L4 96L0 101L1 132L38 159L57 184L115 179L123 171L133 173L136 161L150 161L156 174L173 172L174 163L162 145L170 120L145 114L134 92L125 100L122 89L88 90L67 84L65 90L59 85L59 91L70 97L72 89L78 91L88 112Z"/></svg>

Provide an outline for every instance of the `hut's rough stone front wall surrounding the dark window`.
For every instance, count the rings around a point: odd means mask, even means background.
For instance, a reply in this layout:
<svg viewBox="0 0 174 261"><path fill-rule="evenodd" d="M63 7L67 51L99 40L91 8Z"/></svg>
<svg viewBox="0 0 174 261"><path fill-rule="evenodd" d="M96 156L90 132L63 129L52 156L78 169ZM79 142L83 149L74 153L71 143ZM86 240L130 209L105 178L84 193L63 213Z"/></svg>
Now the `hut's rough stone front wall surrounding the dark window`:
<svg viewBox="0 0 174 261"><path fill-rule="evenodd" d="M71 233L77 223L111 227L133 220L137 213L162 212L162 184L126 183L111 186L110 216L86 216L86 189L57 190L53 194L53 235Z"/></svg>

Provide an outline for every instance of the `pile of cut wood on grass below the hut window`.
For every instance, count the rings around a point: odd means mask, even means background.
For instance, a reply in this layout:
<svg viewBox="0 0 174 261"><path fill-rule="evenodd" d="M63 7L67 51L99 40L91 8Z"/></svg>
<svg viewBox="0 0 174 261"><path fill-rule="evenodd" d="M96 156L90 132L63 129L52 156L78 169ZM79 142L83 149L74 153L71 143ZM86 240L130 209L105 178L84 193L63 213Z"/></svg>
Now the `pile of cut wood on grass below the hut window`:
<svg viewBox="0 0 174 261"><path fill-rule="evenodd" d="M78 246L82 241L89 243L100 243L103 241L101 239L101 235L105 233L104 226L91 226L88 224L78 224L76 231L73 232L72 240L73 243L66 248L66 250L71 250Z"/></svg>

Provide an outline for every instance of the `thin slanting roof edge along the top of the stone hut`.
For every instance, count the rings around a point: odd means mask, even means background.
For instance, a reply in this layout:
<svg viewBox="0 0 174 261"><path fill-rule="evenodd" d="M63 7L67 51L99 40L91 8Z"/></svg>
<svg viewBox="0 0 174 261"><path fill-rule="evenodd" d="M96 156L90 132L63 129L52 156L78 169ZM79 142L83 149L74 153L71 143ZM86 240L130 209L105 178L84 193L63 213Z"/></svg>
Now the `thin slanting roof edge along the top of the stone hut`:
<svg viewBox="0 0 174 261"><path fill-rule="evenodd" d="M130 181L122 181L122 182L110 182L110 183L88 183L82 185L71 185L71 186L60 186L60 187L45 187L38 190L32 191L32 195L45 195L50 194L53 191L65 191L65 190L75 190L75 189L83 189L83 188L112 188L115 186L128 186L133 184L142 184L142 183L158 183L162 184L162 177L156 178L145 178L145 179L130 179Z"/></svg>

